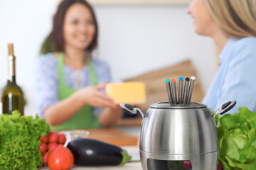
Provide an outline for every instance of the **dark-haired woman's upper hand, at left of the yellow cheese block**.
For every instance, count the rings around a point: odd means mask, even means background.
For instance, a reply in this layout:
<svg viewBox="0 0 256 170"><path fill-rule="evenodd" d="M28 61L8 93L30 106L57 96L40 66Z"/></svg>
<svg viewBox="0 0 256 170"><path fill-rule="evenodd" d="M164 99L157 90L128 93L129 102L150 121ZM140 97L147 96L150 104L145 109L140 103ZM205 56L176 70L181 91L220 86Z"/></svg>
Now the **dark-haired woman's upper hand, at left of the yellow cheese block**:
<svg viewBox="0 0 256 170"><path fill-rule="evenodd" d="M106 84L98 86L87 86L79 91L75 92L82 105L90 105L94 108L98 107L109 107L116 108L116 105L113 103L112 98L107 94L103 94L100 90L105 89Z"/></svg>

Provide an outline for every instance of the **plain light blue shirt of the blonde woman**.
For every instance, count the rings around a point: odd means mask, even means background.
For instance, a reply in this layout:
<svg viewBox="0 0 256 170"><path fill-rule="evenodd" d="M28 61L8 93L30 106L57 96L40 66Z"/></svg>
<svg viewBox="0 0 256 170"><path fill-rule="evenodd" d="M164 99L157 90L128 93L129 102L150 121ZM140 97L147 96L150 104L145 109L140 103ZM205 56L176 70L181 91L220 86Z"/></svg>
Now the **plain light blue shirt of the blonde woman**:
<svg viewBox="0 0 256 170"><path fill-rule="evenodd" d="M242 106L256 111L256 38L230 38L219 57L220 67L202 103L216 111L235 100L228 113L238 113Z"/></svg>

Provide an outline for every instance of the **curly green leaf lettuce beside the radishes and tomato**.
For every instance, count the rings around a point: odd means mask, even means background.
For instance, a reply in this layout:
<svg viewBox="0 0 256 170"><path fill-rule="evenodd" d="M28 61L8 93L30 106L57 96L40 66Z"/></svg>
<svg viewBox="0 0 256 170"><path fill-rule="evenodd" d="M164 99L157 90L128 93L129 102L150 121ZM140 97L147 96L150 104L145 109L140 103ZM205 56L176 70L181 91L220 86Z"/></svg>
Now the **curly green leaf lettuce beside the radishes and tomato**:
<svg viewBox="0 0 256 170"><path fill-rule="evenodd" d="M38 169L42 154L39 137L49 132L46 120L18 111L0 115L0 169Z"/></svg>

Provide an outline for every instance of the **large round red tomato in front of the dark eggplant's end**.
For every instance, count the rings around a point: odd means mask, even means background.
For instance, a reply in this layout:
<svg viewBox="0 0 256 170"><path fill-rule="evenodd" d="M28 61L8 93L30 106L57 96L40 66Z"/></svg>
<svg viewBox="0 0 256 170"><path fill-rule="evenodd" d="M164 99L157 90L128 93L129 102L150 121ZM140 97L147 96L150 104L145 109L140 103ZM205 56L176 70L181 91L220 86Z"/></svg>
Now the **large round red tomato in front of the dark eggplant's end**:
<svg viewBox="0 0 256 170"><path fill-rule="evenodd" d="M70 149L58 145L49 152L47 164L51 170L70 169L74 164L74 156Z"/></svg>

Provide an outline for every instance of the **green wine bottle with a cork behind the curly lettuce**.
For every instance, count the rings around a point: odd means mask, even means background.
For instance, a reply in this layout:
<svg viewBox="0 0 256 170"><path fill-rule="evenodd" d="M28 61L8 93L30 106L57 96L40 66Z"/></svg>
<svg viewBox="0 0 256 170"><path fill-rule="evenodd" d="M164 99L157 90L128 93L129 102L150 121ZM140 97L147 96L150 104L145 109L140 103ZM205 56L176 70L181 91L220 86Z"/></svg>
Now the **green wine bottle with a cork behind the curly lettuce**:
<svg viewBox="0 0 256 170"><path fill-rule="evenodd" d="M16 84L14 44L8 44L8 80L1 91L3 114L18 110L24 115L24 98L21 88Z"/></svg>

